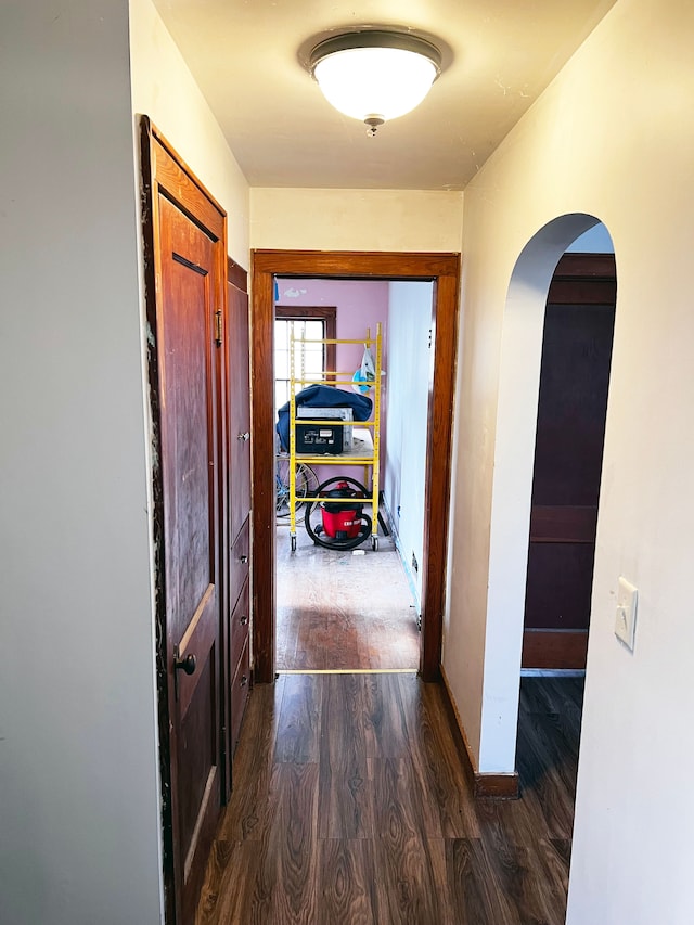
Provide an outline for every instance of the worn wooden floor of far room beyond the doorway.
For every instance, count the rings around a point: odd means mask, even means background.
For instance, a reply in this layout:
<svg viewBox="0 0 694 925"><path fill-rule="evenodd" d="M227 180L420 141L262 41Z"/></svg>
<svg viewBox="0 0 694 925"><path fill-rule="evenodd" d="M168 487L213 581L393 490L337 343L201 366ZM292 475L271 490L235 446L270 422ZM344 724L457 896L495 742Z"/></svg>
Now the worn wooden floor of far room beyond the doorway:
<svg viewBox="0 0 694 925"><path fill-rule="evenodd" d="M390 537L355 554L314 545L301 523L290 549L278 526L279 671L419 668L416 609Z"/></svg>

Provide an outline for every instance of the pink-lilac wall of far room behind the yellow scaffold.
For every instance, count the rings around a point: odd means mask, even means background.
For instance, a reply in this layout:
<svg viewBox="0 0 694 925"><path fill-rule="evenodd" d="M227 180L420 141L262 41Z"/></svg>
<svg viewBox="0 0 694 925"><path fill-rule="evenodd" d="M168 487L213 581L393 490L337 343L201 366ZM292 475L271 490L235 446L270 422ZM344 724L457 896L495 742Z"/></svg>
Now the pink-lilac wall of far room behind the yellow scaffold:
<svg viewBox="0 0 694 925"><path fill-rule="evenodd" d="M351 339L365 336L371 327L375 336L376 323L381 322L383 344L383 368L387 369L388 330L388 282L382 280L294 280L278 279L279 300L282 306L335 306L337 309L337 338ZM375 346L372 347L375 359ZM351 374L361 365L363 346L344 344L337 346L337 371ZM342 386L349 388L349 386ZM386 434L385 384L381 400L381 483L383 484ZM321 466L319 478L345 474L363 481L361 467Z"/></svg>

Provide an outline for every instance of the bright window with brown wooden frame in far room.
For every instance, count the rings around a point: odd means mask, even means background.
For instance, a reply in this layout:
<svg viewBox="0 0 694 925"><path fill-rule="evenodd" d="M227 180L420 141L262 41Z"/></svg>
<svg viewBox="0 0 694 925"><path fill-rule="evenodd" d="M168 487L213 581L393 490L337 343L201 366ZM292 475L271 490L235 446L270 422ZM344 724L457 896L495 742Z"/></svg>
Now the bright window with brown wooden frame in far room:
<svg viewBox="0 0 694 925"><path fill-rule="evenodd" d="M274 407L281 408L290 400L290 343L292 329L294 337L308 341L335 339L337 309L332 307L299 308L277 306L274 309ZM320 382L331 380L336 372L336 350L334 344L294 345L294 374L303 378ZM296 386L296 391L306 388Z"/></svg>

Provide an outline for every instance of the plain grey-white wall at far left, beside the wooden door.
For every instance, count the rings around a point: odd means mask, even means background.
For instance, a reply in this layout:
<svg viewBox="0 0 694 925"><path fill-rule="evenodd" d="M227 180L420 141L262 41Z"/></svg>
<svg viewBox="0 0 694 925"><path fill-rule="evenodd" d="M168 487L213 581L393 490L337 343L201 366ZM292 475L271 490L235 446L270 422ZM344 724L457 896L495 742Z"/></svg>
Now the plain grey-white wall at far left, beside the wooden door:
<svg viewBox="0 0 694 925"><path fill-rule="evenodd" d="M0 13L0 921L160 921L128 4Z"/></svg>

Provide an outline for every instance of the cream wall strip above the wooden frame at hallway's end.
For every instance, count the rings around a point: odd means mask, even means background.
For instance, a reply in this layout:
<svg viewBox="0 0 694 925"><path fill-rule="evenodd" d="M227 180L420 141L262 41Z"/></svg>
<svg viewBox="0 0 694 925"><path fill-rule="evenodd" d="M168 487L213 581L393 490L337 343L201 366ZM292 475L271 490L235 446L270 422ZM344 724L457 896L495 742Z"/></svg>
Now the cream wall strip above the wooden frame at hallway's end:
<svg viewBox="0 0 694 925"><path fill-rule="evenodd" d="M250 246L297 250L459 252L460 192L250 191Z"/></svg>

